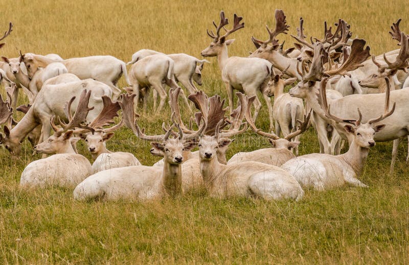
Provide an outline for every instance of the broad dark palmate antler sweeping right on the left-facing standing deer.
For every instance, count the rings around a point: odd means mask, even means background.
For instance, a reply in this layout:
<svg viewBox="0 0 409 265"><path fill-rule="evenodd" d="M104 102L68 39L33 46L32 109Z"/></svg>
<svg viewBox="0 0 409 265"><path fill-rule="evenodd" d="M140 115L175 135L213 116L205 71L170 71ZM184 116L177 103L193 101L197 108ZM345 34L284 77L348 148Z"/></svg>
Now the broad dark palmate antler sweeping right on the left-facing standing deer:
<svg viewBox="0 0 409 265"><path fill-rule="evenodd" d="M371 48L369 46L363 49L366 43L367 42L364 39L354 39L351 45L351 53L347 60L345 60L338 68L326 71L325 74L329 76L347 75L348 71L363 66L362 62L366 61L368 57L371 56Z"/></svg>

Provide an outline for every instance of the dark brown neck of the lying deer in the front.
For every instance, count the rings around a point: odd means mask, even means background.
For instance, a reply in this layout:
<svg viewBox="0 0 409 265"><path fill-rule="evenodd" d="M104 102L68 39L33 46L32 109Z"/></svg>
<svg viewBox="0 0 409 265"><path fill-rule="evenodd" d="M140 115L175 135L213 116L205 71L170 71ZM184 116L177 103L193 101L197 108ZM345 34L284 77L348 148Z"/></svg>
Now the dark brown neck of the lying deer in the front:
<svg viewBox="0 0 409 265"><path fill-rule="evenodd" d="M183 191L181 164L170 164L164 159L162 181L162 185L167 194L172 196L181 194Z"/></svg>

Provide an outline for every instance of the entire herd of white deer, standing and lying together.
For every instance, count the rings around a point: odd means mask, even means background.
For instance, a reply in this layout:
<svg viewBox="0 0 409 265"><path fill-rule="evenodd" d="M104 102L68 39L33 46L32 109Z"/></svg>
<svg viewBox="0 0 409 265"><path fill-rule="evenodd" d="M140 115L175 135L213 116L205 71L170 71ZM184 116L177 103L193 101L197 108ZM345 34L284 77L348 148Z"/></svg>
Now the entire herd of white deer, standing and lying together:
<svg viewBox="0 0 409 265"><path fill-rule="evenodd" d="M214 197L300 200L303 187L325 190L345 183L366 187L358 177L369 148L375 141L389 140L394 140L392 172L400 139L409 135L409 35L400 31L400 19L390 32L400 49L377 57L371 57L365 40L351 39L350 25L343 19L335 23L334 32L325 22L323 39L307 40L300 18L297 36L291 35L297 40L295 47L284 50L276 37L287 34L289 26L282 10L275 11L275 19L274 31L267 26L267 40L252 37L257 50L249 57L228 56L234 39L227 38L244 28L242 17L234 14L228 30L229 21L221 11L219 25L213 21L216 31L207 31L212 42L201 55L217 57L228 108L223 108L225 100L219 95L209 98L193 82L201 85L201 70L209 61L186 54L140 50L127 64L112 56L63 60L55 54L20 52L17 58L2 57L0 79L7 100L0 100L0 123L5 124L0 143L19 155L27 136L44 156L27 165L20 185L76 186L77 200L152 199L197 187L205 187ZM117 86L122 75L131 86L124 88L128 93ZM16 108L20 88L30 104ZM162 110L169 96L171 124L163 124L162 135L146 135L138 126L138 104L142 101L147 111L150 88L155 111ZM238 90L236 108L234 90ZM255 125L262 106L258 92L268 108L271 132ZM190 110L188 125L180 114L179 95ZM189 101L198 112L192 113ZM25 113L19 122L13 118L14 109ZM121 109L120 122L109 127ZM163 159L144 166L130 153L107 150L106 141L123 125L150 141L151 154ZM310 125L319 137L321 153L298 156L299 137ZM248 127L268 138L272 147L240 152L227 160L232 137ZM93 164L77 152L81 139ZM349 149L340 154L343 140ZM196 146L198 151L192 152Z"/></svg>

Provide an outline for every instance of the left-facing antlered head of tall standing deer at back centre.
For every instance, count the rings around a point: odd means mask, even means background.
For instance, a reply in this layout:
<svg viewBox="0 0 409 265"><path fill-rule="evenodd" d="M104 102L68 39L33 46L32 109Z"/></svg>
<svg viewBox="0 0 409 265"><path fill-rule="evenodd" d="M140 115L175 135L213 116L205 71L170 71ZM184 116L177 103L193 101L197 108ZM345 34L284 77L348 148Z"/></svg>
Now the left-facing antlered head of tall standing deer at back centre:
<svg viewBox="0 0 409 265"><path fill-rule="evenodd" d="M222 49L226 49L227 45L233 43L234 39L226 40L226 38L233 32L244 28L244 23L240 23L243 19L241 16L237 16L234 14L234 24L231 30L227 30L224 28L225 26L229 25L229 20L224 17L224 11L220 11L220 23L219 26L216 26L216 23L213 21L213 25L216 27L216 34L213 31L207 30L209 37L213 39L210 45L201 52L201 56L203 57L213 57L217 56L221 53ZM220 30L223 29L226 33L223 36L220 36Z"/></svg>

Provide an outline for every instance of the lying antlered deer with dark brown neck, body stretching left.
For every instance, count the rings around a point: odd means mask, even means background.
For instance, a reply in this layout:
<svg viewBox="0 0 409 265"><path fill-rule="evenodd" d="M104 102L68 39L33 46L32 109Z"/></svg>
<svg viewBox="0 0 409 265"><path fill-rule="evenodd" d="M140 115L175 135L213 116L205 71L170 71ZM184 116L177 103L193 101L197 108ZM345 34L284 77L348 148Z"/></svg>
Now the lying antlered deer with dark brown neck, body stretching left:
<svg viewBox="0 0 409 265"><path fill-rule="evenodd" d="M173 126L165 135L145 135L135 123L133 97L124 94L121 102L123 119L138 137L152 141L152 146L165 154L164 166L128 166L112 168L89 176L74 190L74 199L87 200L104 197L107 200L115 199L141 199L151 200L162 198L166 195L180 195L183 192L181 163L182 152L196 146L195 143L185 142L188 138L196 138L197 135L184 137L183 131L178 125L179 135L170 138ZM201 133L206 125L197 133Z"/></svg>

